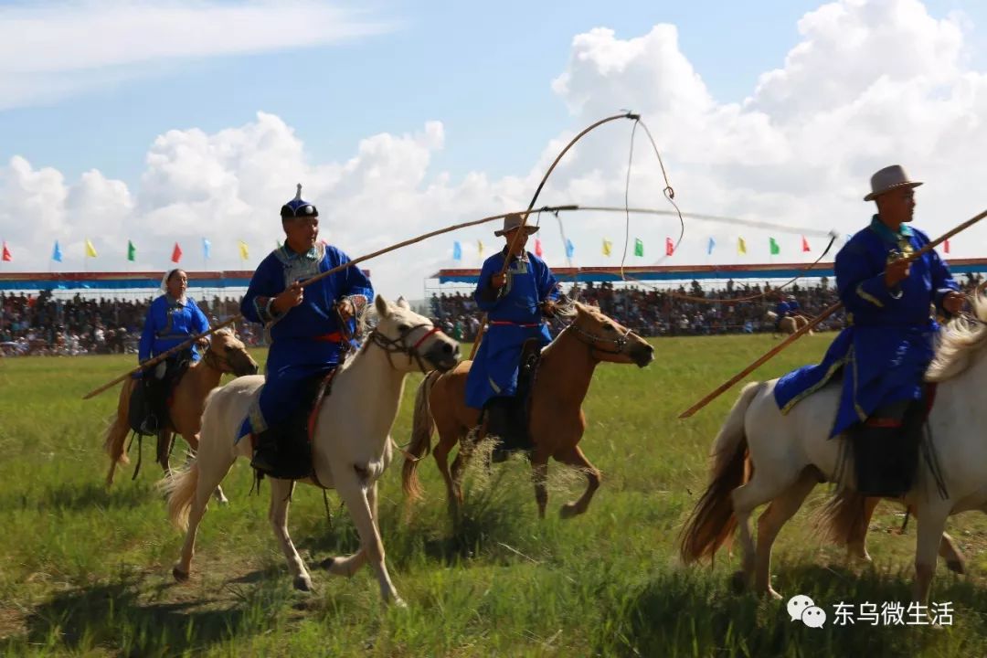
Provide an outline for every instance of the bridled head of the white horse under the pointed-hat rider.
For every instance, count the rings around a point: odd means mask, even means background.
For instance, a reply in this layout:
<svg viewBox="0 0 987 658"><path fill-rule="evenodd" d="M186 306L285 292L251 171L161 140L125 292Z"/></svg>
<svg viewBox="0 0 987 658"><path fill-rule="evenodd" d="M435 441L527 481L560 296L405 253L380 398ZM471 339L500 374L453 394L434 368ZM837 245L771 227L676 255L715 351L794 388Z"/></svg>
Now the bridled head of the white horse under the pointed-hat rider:
<svg viewBox="0 0 987 658"><path fill-rule="evenodd" d="M445 372L459 363L459 343L432 325L430 320L412 311L404 298L391 304L377 295L374 308L377 327L367 339L387 352L388 360L396 370ZM407 362L392 358L395 354L404 354L408 357Z"/></svg>

